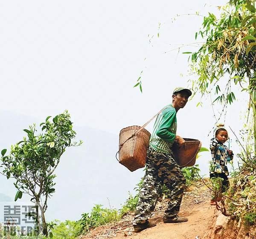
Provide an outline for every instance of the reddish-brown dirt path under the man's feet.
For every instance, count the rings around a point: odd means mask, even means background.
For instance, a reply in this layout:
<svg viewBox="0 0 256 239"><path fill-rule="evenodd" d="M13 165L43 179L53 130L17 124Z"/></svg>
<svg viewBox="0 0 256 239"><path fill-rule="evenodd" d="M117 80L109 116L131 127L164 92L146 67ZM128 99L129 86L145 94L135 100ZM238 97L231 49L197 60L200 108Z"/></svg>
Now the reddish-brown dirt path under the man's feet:
<svg viewBox="0 0 256 239"><path fill-rule="evenodd" d="M133 215L128 215L120 222L105 225L92 230L82 239L203 239L208 228L215 220L216 208L209 205L210 192L204 185L196 185L184 193L180 216L188 217L188 222L165 224L162 221L167 200L157 204L152 217L157 226L135 233L132 227Z"/></svg>

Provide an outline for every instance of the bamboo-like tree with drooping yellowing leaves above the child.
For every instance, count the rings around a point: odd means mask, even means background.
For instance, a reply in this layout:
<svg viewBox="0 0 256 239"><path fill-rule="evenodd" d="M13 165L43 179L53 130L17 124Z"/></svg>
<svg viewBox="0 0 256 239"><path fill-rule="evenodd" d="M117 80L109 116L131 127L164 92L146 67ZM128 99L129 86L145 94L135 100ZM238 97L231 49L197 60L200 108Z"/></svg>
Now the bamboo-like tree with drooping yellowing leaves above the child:
<svg viewBox="0 0 256 239"><path fill-rule="evenodd" d="M250 109L254 120L254 151L256 152L256 9L254 0L230 0L221 10L220 17L209 13L204 17L195 39L204 43L191 53L192 71L198 79L192 88L202 95L215 91L216 99L227 105L236 99L233 85L250 94ZM186 52L187 53L187 52ZM220 81L225 89L221 91Z"/></svg>

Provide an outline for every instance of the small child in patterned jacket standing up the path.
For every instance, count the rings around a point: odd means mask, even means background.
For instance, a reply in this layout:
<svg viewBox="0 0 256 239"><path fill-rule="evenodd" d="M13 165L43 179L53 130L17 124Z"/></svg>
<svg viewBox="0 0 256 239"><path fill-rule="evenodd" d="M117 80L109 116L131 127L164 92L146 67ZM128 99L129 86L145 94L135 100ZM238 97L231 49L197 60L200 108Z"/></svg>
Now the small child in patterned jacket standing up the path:
<svg viewBox="0 0 256 239"><path fill-rule="evenodd" d="M233 159L233 152L229 150L224 142L229 139L227 130L224 125L217 125L214 130L215 138L211 139L210 150L212 153L212 167L210 169L210 179L211 178L222 178L222 188L221 192L227 191L229 188L229 181L227 176L229 175L227 169L227 162ZM217 198L216 201L219 201ZM215 205L215 196L212 197L210 201L211 205Z"/></svg>

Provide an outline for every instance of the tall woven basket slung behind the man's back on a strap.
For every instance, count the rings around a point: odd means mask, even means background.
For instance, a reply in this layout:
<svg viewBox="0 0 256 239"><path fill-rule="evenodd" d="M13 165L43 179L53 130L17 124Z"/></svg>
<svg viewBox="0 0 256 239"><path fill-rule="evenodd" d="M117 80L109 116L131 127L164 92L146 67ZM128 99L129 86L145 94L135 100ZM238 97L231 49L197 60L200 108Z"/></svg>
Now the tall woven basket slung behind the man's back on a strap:
<svg viewBox="0 0 256 239"><path fill-rule="evenodd" d="M143 168L146 163L150 133L143 128L131 137L140 128L136 125L130 126L123 128L119 134L119 163L130 171Z"/></svg>

